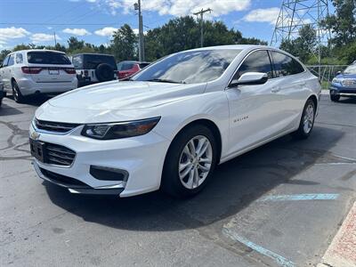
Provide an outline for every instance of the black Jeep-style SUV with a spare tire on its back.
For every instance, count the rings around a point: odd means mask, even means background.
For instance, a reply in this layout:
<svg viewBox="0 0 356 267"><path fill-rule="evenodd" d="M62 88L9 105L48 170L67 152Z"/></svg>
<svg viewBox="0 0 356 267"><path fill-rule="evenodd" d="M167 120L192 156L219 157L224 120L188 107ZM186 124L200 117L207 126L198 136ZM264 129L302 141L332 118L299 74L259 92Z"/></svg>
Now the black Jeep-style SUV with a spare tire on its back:
<svg viewBox="0 0 356 267"><path fill-rule="evenodd" d="M110 54L78 53L72 56L72 62L79 87L117 79L117 64Z"/></svg>

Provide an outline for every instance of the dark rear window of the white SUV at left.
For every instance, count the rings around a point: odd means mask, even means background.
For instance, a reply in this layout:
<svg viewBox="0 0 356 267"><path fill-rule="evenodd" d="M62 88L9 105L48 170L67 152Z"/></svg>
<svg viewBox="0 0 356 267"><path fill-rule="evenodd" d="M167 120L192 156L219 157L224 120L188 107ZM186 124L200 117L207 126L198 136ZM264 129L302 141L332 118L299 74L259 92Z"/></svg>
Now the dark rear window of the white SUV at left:
<svg viewBox="0 0 356 267"><path fill-rule="evenodd" d="M70 65L69 58L64 53L28 52L28 63Z"/></svg>

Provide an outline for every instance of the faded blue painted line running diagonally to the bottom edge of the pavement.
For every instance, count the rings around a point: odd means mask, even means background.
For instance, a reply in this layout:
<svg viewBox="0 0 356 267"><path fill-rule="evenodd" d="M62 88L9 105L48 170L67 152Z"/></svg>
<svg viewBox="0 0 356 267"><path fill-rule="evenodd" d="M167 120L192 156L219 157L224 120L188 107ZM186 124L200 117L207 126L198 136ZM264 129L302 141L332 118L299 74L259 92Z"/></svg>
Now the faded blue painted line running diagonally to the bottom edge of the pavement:
<svg viewBox="0 0 356 267"><path fill-rule="evenodd" d="M273 261L278 263L280 266L283 267L295 267L295 263L287 260L285 257L278 255L277 253L272 252L271 250L268 250L264 247L261 247L243 237L240 237L237 233L234 231L231 231L229 228L224 227L223 228L223 234L225 234L227 237L229 237L232 240L239 241L240 243L244 244L247 247L250 247L251 249L255 250L259 254L265 255L269 258L271 258Z"/></svg>

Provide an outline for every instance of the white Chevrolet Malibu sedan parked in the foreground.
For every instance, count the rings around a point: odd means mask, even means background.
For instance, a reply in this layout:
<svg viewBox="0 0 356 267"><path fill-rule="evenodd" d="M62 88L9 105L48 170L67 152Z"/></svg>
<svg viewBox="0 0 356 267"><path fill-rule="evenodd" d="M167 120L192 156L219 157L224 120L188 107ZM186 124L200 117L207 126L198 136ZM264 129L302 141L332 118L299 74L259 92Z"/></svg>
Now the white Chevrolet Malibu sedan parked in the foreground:
<svg viewBox="0 0 356 267"><path fill-rule="evenodd" d="M285 134L307 138L319 98L318 78L288 53L206 47L45 102L30 149L36 173L72 193L190 197L216 165Z"/></svg>

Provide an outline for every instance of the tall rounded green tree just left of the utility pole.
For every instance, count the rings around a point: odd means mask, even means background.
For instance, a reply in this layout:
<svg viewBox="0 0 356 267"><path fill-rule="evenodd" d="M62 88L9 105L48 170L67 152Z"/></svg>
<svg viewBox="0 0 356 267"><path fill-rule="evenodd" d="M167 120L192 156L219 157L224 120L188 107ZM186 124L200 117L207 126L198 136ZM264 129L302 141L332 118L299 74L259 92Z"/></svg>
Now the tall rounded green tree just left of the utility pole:
<svg viewBox="0 0 356 267"><path fill-rule="evenodd" d="M135 60L136 47L137 36L128 24L124 24L114 32L110 48L117 61Z"/></svg>

